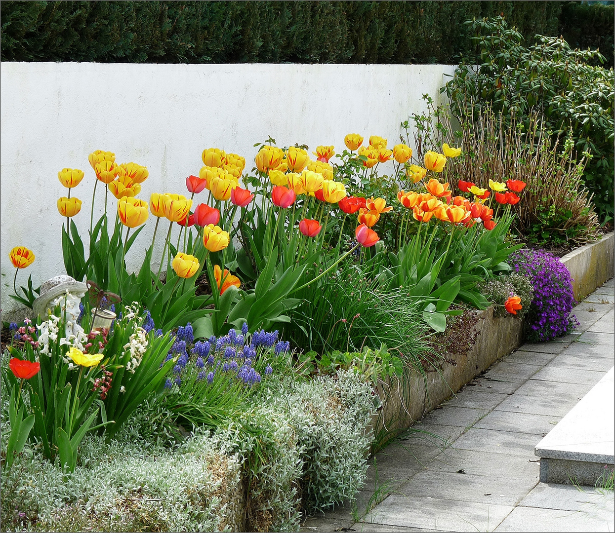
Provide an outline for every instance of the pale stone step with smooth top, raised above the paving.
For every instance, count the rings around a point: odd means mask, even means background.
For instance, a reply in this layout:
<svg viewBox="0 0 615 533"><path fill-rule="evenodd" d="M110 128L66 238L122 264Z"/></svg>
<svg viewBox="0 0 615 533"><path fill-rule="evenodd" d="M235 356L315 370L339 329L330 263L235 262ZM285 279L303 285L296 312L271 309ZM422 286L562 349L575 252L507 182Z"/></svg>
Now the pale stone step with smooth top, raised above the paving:
<svg viewBox="0 0 615 533"><path fill-rule="evenodd" d="M615 463L614 374L611 368L536 445L542 483L592 486L611 472Z"/></svg>

